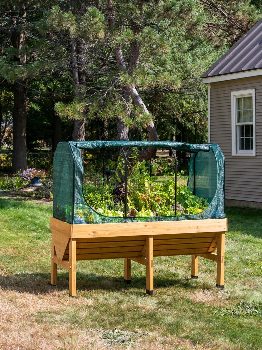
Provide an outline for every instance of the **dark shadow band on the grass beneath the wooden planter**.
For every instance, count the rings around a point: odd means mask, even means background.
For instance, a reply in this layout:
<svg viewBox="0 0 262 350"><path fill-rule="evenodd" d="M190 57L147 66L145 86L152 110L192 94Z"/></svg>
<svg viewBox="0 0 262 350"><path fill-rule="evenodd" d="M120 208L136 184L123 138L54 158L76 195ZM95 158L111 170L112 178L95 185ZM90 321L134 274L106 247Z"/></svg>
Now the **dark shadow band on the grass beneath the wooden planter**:
<svg viewBox="0 0 262 350"><path fill-rule="evenodd" d="M54 290L68 292L69 280L68 272L59 272L57 285L52 286L50 273L29 273L0 275L0 287L2 290L13 290L18 293L48 294ZM201 288L203 286L201 285ZM184 288L188 290L198 289L197 280L179 278L154 278L154 289L163 290L169 288ZM199 286L200 288L200 286ZM206 286L210 288L210 286ZM80 291L109 291L128 292L132 294L146 293L146 277L131 276L131 284L125 284L123 276L112 277L109 275L99 275L94 273L77 273L77 292Z"/></svg>

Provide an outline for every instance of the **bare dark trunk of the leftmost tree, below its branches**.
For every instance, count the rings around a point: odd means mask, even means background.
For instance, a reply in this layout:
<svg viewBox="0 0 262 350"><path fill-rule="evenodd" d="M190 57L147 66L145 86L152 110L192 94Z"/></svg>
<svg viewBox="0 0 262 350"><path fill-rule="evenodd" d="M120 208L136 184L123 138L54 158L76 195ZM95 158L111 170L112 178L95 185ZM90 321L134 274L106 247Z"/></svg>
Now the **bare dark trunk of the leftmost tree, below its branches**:
<svg viewBox="0 0 262 350"><path fill-rule="evenodd" d="M27 169L27 90L16 82L14 84L14 113L13 113L13 158L12 172Z"/></svg>

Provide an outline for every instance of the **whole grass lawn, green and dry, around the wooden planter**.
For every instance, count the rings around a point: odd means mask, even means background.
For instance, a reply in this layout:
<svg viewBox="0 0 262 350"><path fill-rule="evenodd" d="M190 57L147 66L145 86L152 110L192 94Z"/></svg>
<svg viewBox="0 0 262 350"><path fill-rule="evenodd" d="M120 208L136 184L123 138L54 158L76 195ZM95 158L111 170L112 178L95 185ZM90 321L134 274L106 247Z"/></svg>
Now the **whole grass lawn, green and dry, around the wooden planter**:
<svg viewBox="0 0 262 350"><path fill-rule="evenodd" d="M79 261L76 298L65 269L51 286L50 216L51 204L0 198L0 349L262 349L261 210L226 208L223 291L213 261L199 258L191 280L191 257L163 257L153 296L135 262L124 284L123 259Z"/></svg>

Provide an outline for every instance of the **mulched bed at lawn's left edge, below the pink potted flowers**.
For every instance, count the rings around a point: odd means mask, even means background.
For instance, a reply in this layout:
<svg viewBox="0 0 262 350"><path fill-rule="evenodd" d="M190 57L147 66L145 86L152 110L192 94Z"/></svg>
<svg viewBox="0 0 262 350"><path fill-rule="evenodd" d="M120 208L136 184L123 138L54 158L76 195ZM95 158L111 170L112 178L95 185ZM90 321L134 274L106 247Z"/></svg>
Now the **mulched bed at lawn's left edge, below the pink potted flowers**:
<svg viewBox="0 0 262 350"><path fill-rule="evenodd" d="M26 187L20 188L19 190L0 190L0 197L15 201L34 201L34 203L50 204L53 202L50 200L49 189L43 185L34 186L29 184Z"/></svg>

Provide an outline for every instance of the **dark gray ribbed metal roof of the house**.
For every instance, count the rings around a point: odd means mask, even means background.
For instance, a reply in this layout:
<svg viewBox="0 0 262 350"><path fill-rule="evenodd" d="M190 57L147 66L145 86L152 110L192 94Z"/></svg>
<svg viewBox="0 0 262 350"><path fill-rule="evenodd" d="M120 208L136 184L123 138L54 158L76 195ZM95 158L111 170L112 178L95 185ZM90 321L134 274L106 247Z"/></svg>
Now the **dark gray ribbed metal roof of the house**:
<svg viewBox="0 0 262 350"><path fill-rule="evenodd" d="M201 78L262 68L262 19L237 41Z"/></svg>

